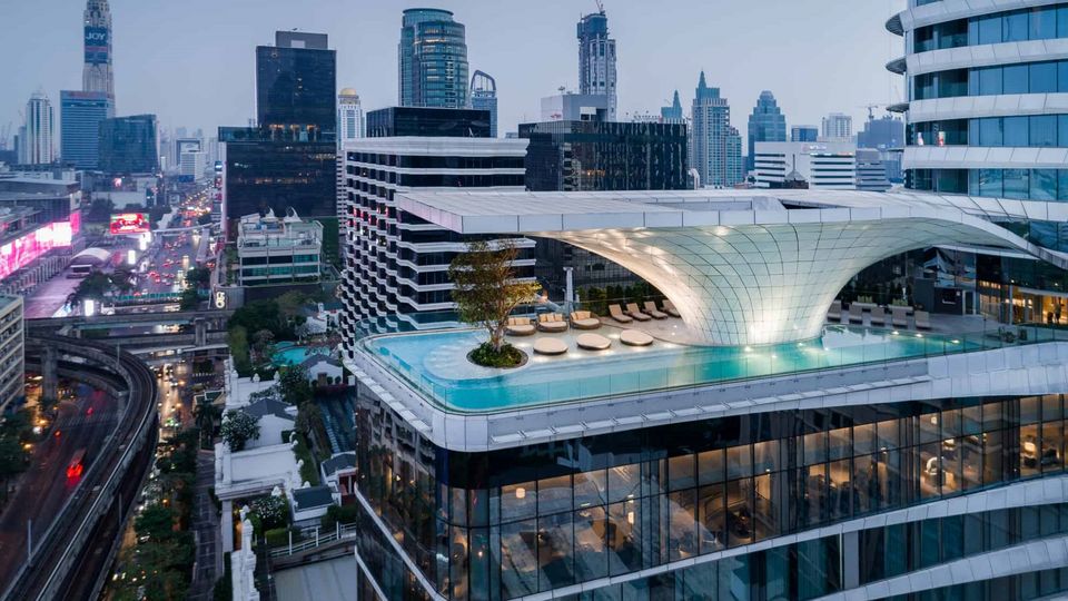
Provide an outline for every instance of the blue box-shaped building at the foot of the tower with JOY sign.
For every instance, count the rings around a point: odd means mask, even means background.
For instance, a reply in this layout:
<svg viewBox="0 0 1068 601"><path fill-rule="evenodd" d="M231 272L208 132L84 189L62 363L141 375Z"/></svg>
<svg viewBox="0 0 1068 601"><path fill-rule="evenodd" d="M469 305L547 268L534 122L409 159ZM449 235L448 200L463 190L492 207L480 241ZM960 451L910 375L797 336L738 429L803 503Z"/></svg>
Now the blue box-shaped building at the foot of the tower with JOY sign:
<svg viewBox="0 0 1068 601"><path fill-rule="evenodd" d="M100 124L115 117L115 102L106 92L59 92L60 156L78 169L93 170L100 157Z"/></svg>

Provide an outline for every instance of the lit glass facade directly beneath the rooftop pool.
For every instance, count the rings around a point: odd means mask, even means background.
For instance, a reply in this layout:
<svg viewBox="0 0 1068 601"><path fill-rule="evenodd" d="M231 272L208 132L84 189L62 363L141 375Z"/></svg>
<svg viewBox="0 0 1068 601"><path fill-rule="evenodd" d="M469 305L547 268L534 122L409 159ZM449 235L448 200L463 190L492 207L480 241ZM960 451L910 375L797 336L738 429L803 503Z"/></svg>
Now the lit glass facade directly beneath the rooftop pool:
<svg viewBox="0 0 1068 601"><path fill-rule="evenodd" d="M750 414L457 453L423 440L362 388L356 427L357 440L367 441L357 450L362 494L441 594L472 600L630 574L1061 474L1065 456L1064 398L1057 394ZM1057 524L1041 528L1059 532ZM953 532L937 528L942 536ZM920 535L927 541L930 533ZM1013 536L1008 544L1024 540ZM991 539L989 548L1003 546L1000 540ZM755 574L734 558L711 571L676 570L665 578L681 578L683 587L688 574L695 582L711 579L708 590L721 592L708 599L724 598L723 579L728 590L736 581L743 591L728 599L778 598L768 593L773 590L792 597L801 587L811 597L833 592L841 582L833 560L840 551L833 543L813 545L800 554L777 550L774 568L764 558ZM927 552L926 543L917 545ZM948 558L958 548L942 549ZM791 552L803 558L802 570ZM911 561L906 558L903 569ZM874 566L866 569L868 578L877 577Z"/></svg>

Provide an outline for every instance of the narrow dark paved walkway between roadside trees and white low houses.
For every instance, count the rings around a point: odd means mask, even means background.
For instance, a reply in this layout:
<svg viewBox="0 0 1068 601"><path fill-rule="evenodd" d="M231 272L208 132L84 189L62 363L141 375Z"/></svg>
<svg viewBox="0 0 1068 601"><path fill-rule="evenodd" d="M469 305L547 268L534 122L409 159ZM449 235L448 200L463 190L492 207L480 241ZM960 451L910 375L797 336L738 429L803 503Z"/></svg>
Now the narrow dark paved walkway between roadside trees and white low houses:
<svg viewBox="0 0 1068 601"><path fill-rule="evenodd" d="M215 581L222 574L222 549L219 540L219 514L208 489L215 484L215 452L201 450L197 456L197 486L194 501L192 530L197 538L197 563L189 587L191 601L210 601Z"/></svg>

